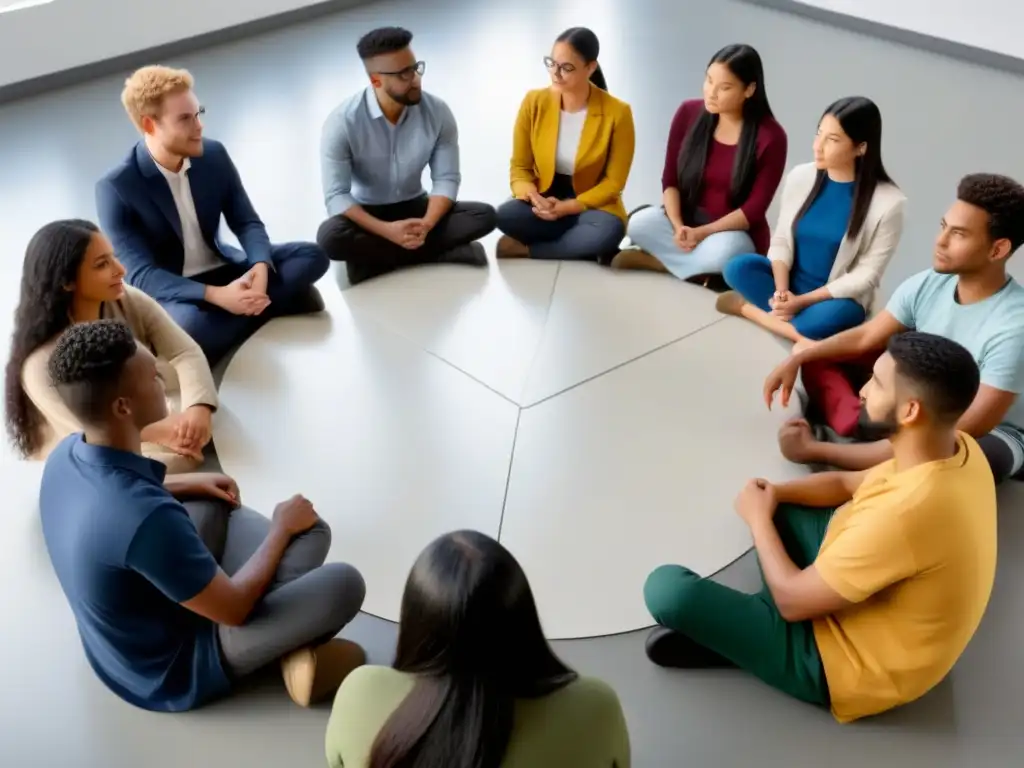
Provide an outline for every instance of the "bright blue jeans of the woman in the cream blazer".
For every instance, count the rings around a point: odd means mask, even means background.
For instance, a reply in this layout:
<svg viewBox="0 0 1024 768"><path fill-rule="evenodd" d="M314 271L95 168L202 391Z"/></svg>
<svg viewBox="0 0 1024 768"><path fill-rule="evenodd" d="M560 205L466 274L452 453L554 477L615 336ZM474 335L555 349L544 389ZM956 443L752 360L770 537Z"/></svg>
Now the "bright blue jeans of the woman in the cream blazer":
<svg viewBox="0 0 1024 768"><path fill-rule="evenodd" d="M771 311L768 300L775 293L775 276L771 271L771 262L766 257L756 253L737 256L726 265L723 276L729 288L754 306L766 312ZM807 290L801 290L806 287L799 283L799 280L794 280L794 293L807 293ZM825 299L799 312L792 324L794 330L804 338L818 341L859 326L865 316L864 307L853 299Z"/></svg>

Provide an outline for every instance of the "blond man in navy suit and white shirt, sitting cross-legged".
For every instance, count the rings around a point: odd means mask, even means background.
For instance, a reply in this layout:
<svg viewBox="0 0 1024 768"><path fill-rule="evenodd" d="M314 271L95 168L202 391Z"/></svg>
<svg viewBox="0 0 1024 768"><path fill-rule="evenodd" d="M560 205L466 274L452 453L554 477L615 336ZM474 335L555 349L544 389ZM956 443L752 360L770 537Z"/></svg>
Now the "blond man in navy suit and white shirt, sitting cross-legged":
<svg viewBox="0 0 1024 768"><path fill-rule="evenodd" d="M329 262L315 243L271 245L227 150L203 135L193 85L167 67L128 78L121 100L142 140L96 182L96 211L128 283L213 366L266 319L323 310L313 284ZM241 250L221 240L221 218Z"/></svg>

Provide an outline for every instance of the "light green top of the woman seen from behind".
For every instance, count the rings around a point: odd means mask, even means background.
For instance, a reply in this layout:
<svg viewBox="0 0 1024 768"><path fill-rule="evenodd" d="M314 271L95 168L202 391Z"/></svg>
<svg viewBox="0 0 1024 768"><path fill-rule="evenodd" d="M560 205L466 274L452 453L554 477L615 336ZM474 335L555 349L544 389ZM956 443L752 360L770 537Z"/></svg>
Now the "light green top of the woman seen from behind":
<svg viewBox="0 0 1024 768"><path fill-rule="evenodd" d="M327 726L331 768L366 768L377 733L413 689L415 676L360 667L338 690ZM630 768L630 737L618 696L581 677L543 698L516 702L502 768Z"/></svg>

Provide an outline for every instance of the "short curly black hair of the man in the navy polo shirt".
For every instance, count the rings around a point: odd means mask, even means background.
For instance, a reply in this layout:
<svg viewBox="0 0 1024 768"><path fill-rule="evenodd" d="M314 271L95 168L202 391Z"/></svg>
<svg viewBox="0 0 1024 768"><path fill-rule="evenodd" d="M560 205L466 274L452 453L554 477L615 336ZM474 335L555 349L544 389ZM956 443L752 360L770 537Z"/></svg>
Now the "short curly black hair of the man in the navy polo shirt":
<svg viewBox="0 0 1024 768"><path fill-rule="evenodd" d="M83 424L100 424L137 351L135 337L120 321L79 323L57 339L48 366L50 381Z"/></svg>

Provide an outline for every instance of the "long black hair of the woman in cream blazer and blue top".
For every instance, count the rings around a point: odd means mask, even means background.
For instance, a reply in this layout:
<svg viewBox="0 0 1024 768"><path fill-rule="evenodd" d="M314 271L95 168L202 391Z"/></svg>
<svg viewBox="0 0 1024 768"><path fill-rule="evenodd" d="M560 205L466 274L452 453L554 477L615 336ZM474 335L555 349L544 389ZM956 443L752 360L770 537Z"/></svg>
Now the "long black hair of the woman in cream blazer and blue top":
<svg viewBox="0 0 1024 768"><path fill-rule="evenodd" d="M878 105L864 96L846 96L833 101L821 114L831 115L839 121L843 132L850 137L854 145L864 144L864 154L854 160L853 210L850 212L850 223L847 225L847 236L856 238L860 227L867 218L867 209L871 206L871 198L876 187L881 183L895 184L886 167L882 164L882 112ZM820 125L821 120L818 121ZM797 238L797 223L821 194L828 172L819 170L814 179L804 205L797 211L793 219L794 243Z"/></svg>

